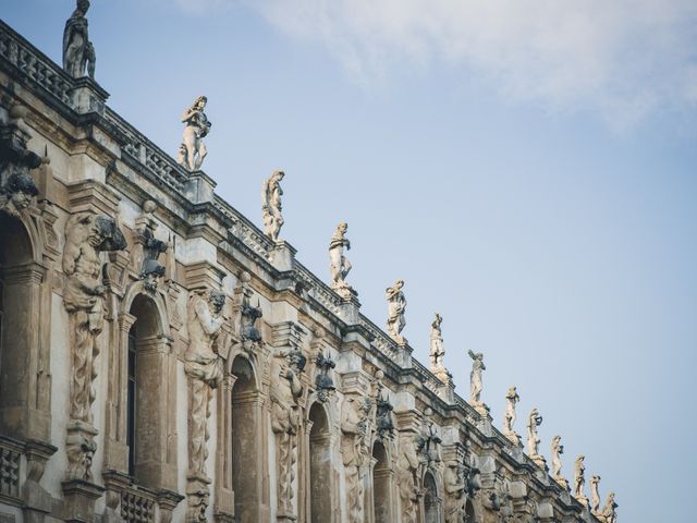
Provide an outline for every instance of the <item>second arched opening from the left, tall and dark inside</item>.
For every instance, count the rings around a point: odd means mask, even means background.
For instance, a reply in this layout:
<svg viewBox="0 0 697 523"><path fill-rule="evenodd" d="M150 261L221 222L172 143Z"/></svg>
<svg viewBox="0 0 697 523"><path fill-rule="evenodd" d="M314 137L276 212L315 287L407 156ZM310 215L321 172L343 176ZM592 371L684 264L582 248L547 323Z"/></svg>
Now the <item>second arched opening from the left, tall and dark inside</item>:
<svg viewBox="0 0 697 523"><path fill-rule="evenodd" d="M129 330L126 445L129 474L139 485L159 487L166 430L162 427L166 398L159 353L162 346L157 305L138 294L131 305L135 323Z"/></svg>

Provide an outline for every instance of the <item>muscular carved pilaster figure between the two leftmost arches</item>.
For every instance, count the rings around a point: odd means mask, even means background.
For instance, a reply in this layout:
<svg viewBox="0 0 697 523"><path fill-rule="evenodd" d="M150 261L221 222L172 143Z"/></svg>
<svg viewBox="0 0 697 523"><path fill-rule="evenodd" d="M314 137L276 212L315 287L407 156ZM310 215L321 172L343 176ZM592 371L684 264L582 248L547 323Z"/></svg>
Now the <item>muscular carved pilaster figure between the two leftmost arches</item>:
<svg viewBox="0 0 697 523"><path fill-rule="evenodd" d="M99 253L122 251L125 239L108 216L89 212L73 215L65 224L63 303L70 317L71 388L68 426L69 479L91 479L89 466L97 446L91 404L97 377L97 337L103 327L108 282L102 281Z"/></svg>

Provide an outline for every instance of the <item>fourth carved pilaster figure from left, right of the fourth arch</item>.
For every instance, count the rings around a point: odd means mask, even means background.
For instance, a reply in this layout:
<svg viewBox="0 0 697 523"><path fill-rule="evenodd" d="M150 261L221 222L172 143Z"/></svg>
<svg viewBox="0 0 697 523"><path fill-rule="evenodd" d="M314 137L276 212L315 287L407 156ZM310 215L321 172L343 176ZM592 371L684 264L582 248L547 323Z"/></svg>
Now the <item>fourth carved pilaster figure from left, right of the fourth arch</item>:
<svg viewBox="0 0 697 523"><path fill-rule="evenodd" d="M350 523L364 521L363 477L367 467L367 412L359 398L350 396L341 409L341 453L346 477L346 506Z"/></svg>

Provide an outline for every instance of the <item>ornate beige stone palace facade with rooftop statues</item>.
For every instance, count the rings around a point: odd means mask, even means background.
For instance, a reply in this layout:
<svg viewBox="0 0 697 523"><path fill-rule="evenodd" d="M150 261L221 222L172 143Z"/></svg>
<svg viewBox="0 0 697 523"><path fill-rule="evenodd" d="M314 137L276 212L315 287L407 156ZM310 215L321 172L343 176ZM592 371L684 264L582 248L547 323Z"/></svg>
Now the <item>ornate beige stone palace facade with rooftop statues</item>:
<svg viewBox="0 0 697 523"><path fill-rule="evenodd" d="M330 284L200 166L206 99L172 158L112 111L94 81L88 2L63 66L0 22L0 522L614 523L480 402L454 393L440 316L429 368L402 338L388 289L381 330L345 282L346 224ZM503 398L502 398L503 401ZM571 484L570 484L571 483Z"/></svg>

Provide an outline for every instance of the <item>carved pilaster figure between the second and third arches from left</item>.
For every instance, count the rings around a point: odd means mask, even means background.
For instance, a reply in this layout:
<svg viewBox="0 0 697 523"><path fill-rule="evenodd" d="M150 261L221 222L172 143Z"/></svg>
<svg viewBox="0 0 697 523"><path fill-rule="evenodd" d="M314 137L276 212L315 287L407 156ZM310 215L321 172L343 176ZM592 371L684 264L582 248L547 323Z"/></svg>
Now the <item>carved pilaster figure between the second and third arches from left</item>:
<svg viewBox="0 0 697 523"><path fill-rule="evenodd" d="M216 343L224 323L225 295L219 291L197 291L188 301L188 351L184 370L188 376L188 471L186 474L186 521L206 521L210 497L206 475L208 418L212 390L222 378L222 363Z"/></svg>

